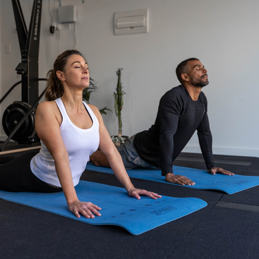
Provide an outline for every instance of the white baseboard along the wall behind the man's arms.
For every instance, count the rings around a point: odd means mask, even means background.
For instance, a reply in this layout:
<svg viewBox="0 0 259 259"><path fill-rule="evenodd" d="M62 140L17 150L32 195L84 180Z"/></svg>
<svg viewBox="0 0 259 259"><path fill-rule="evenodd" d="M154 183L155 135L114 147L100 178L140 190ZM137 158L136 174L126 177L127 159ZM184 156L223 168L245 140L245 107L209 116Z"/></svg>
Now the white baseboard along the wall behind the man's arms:
<svg viewBox="0 0 259 259"><path fill-rule="evenodd" d="M202 153L200 146L185 146L182 152ZM241 157L259 157L259 149L250 148L226 148L213 146L214 155L238 155Z"/></svg>

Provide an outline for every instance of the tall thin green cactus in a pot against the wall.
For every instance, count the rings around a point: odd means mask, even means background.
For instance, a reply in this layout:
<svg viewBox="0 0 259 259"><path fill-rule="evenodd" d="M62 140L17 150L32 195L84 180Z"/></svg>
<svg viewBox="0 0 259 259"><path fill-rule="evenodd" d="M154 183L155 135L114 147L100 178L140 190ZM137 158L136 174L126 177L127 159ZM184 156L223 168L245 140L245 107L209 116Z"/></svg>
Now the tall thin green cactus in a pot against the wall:
<svg viewBox="0 0 259 259"><path fill-rule="evenodd" d="M121 143L124 143L124 141L128 138L127 136L122 136L122 106L123 106L123 95L125 95L124 90L122 90L122 70L123 68L118 68L116 73L118 76L117 81L117 88L116 92L113 93L115 102L114 102L114 108L115 108L115 114L118 117L118 135L117 136L111 136L111 139L113 140L113 143L115 145L120 145Z"/></svg>

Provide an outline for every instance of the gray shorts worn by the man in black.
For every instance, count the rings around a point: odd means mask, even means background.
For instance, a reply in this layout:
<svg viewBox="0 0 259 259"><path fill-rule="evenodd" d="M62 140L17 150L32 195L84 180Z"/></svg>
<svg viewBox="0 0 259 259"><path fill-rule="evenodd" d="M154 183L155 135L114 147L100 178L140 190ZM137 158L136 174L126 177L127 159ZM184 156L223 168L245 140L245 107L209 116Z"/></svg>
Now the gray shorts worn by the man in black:
<svg viewBox="0 0 259 259"><path fill-rule="evenodd" d="M142 158L139 157L137 151L133 146L133 140L135 135L129 137L124 143L120 144L117 147L117 151L122 156L122 161L126 169L133 169L136 167L151 167L151 164L148 164Z"/></svg>

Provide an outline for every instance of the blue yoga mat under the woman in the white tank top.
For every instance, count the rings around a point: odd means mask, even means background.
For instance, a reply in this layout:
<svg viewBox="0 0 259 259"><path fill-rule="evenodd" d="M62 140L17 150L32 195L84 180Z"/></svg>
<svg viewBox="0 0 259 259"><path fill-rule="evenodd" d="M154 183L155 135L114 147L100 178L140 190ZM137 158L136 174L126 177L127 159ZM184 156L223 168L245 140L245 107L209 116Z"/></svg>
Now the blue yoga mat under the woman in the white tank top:
<svg viewBox="0 0 259 259"><path fill-rule="evenodd" d="M92 202L102 208L100 217L87 219L81 215L77 218L68 211L63 192L60 193L11 193L0 191L0 198L10 202L27 205L94 225L116 225L124 227L133 235L139 235L155 229L184 215L193 213L207 206L198 198L171 198L163 196L153 200L141 196L140 200L129 197L125 189L80 181L75 187L79 200Z"/></svg>

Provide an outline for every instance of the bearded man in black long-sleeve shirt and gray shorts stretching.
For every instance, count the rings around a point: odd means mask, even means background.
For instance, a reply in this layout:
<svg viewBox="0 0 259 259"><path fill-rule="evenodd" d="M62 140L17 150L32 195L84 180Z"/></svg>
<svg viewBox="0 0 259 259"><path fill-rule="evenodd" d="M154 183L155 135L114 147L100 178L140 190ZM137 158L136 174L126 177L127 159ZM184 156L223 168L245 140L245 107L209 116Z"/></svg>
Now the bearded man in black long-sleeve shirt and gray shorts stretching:
<svg viewBox="0 0 259 259"><path fill-rule="evenodd" d="M233 175L215 167L212 154L212 135L207 115L207 98L202 87L209 84L207 70L199 59L182 61L176 68L181 83L160 99L155 124L148 131L130 137L117 147L126 168L155 166L162 170L167 182L193 185L195 182L173 173L173 161L198 131L200 148L209 173ZM90 157L97 166L109 167L105 155L97 151Z"/></svg>

